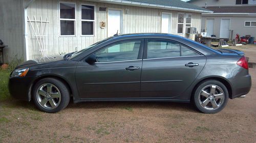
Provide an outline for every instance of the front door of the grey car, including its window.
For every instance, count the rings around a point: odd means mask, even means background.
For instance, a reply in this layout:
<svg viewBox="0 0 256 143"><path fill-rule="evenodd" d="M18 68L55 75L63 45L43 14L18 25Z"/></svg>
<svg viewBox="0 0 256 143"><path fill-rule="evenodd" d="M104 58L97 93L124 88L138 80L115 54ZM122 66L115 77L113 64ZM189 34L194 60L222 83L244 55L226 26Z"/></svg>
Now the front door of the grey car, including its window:
<svg viewBox="0 0 256 143"><path fill-rule="evenodd" d="M76 82L80 98L139 98L143 40L121 41L95 51L97 62L80 61ZM141 54L139 54L141 53Z"/></svg>

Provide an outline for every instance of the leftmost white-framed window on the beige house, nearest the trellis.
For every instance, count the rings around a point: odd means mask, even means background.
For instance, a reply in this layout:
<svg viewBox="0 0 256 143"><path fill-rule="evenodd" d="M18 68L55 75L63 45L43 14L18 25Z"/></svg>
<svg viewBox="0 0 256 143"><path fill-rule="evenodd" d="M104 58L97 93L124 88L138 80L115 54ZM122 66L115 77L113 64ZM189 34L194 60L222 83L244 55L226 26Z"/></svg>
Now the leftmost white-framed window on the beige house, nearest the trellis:
<svg viewBox="0 0 256 143"><path fill-rule="evenodd" d="M76 5L59 3L60 35L75 36Z"/></svg>

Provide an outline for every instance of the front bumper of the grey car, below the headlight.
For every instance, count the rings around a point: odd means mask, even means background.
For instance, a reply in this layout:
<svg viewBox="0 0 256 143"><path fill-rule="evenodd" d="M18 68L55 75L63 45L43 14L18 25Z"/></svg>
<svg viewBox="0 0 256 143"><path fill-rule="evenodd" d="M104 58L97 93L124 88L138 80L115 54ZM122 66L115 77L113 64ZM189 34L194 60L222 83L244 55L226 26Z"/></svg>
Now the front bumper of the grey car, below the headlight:
<svg viewBox="0 0 256 143"><path fill-rule="evenodd" d="M12 77L9 78L9 92L12 97L30 101L31 100L31 86L35 77Z"/></svg>

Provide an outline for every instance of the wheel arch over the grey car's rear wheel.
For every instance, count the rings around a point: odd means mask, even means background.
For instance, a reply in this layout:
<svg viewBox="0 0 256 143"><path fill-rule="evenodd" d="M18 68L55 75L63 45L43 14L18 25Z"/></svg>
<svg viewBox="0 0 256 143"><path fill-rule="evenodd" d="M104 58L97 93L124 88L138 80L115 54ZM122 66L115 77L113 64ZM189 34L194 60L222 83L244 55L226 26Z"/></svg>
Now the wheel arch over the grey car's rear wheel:
<svg viewBox="0 0 256 143"><path fill-rule="evenodd" d="M225 87L227 88L227 91L228 91L228 97L231 99L232 97L232 87L231 87L231 84L230 82L224 78L224 77L221 77L221 76L214 76L214 77L205 77L201 80L199 80L196 85L194 86L193 88L193 91L191 92L191 95L190 95L190 100L193 99L193 95L195 94L195 91L197 89L197 87L202 83L204 82L205 80L218 80L220 81L221 83L223 83L225 85Z"/></svg>

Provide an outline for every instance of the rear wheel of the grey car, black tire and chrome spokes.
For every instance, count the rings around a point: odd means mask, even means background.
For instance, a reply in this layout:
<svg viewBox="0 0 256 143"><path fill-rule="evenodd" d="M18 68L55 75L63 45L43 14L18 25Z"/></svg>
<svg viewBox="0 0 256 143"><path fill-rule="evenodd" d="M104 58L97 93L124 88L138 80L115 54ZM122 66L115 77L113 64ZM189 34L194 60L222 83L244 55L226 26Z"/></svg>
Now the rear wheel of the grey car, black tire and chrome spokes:
<svg viewBox="0 0 256 143"><path fill-rule="evenodd" d="M215 91L214 95L212 95L210 92L211 87L215 87L215 89L217 89ZM207 91L206 93L209 93L209 95L203 94L202 90ZM221 96L222 98L217 99L216 97L218 95L221 95L222 92L224 94ZM206 95L207 95L207 97L206 97ZM220 97L220 96L218 96L218 97ZM192 99L193 99L193 102L194 102L195 106L197 107L197 109L200 110L201 112L217 113L217 112L221 111L227 104L228 90L227 90L226 86L218 80L205 80L205 81L201 82L196 87L196 91L195 91L195 94L193 95ZM206 100L209 100L209 101L206 101ZM208 104L206 104L205 106L204 106L204 104L201 105L201 103L203 103L202 101L206 101L205 103L208 103ZM215 106L216 108L214 108L214 105L213 105L214 103L217 103L215 105L218 105L218 103L220 103L219 104L220 106L217 106L217 107ZM209 108L210 105L212 106L212 109Z"/></svg>

